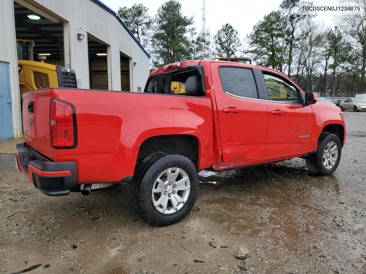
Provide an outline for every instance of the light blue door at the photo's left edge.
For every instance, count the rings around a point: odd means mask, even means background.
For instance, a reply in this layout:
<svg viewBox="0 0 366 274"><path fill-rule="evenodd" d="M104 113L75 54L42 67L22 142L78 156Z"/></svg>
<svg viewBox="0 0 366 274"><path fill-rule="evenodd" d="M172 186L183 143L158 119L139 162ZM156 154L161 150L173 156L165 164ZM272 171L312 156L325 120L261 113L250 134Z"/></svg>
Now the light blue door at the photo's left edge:
<svg viewBox="0 0 366 274"><path fill-rule="evenodd" d="M0 62L0 141L14 138L9 64Z"/></svg>

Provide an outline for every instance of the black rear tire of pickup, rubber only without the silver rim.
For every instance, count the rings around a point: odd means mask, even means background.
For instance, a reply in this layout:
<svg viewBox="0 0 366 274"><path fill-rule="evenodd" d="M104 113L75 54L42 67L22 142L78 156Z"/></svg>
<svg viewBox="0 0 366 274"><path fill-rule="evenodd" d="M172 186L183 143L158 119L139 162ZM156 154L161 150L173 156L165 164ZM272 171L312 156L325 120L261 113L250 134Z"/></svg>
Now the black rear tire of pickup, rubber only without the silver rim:
<svg viewBox="0 0 366 274"><path fill-rule="evenodd" d="M183 207L177 212L163 214L152 201L152 190L158 176L170 167L178 167L188 175L190 193ZM176 153L157 152L147 157L137 168L131 182L132 206L138 215L151 225L165 226L181 221L192 210L198 196L198 172L187 157Z"/></svg>

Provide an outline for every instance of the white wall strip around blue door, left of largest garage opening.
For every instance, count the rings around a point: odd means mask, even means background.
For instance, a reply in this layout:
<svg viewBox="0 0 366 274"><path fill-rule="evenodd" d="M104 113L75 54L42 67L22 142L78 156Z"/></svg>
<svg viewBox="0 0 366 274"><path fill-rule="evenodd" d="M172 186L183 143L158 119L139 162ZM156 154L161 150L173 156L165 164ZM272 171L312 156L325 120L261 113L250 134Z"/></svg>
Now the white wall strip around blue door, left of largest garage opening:
<svg viewBox="0 0 366 274"><path fill-rule="evenodd" d="M0 4L0 61L9 63L10 94L12 101L14 137L22 137L22 118L20 117L20 97L18 61L16 57L13 0L1 0Z"/></svg>

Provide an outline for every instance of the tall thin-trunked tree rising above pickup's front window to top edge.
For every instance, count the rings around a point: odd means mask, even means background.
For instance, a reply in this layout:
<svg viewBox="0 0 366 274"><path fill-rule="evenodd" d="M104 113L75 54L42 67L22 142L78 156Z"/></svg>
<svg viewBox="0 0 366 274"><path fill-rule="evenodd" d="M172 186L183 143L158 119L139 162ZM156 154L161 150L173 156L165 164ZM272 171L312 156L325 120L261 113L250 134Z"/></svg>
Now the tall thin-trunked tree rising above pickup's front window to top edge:
<svg viewBox="0 0 366 274"><path fill-rule="evenodd" d="M312 15L301 12L301 7L309 4L303 0L283 0L280 4L280 13L283 16L288 28L288 77L291 76L292 58L294 57L294 43L296 42L295 31L301 26L304 20Z"/></svg>

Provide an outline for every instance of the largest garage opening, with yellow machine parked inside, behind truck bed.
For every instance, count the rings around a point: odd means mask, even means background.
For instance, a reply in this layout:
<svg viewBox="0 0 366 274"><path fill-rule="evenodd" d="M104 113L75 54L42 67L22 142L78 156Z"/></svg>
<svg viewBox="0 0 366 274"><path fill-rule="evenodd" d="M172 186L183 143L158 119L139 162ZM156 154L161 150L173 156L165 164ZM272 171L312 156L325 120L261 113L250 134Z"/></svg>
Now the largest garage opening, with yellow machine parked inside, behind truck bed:
<svg viewBox="0 0 366 274"><path fill-rule="evenodd" d="M70 67L68 31L55 15L39 4L15 0L14 23L18 57L20 111L22 95L27 91L49 87L76 87L75 71ZM64 36L66 35L66 36ZM65 62L65 52L67 61Z"/></svg>

